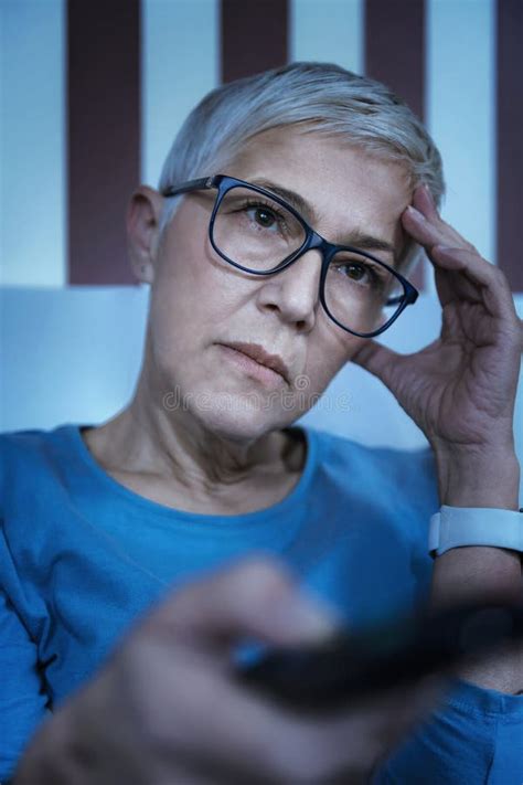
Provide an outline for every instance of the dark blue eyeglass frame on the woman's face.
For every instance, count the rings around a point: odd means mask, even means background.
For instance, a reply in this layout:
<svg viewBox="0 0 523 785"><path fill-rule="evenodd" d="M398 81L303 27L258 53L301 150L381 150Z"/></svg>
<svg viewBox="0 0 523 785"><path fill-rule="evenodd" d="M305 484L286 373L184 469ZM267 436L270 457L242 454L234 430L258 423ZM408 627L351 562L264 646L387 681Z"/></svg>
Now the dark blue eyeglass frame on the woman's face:
<svg viewBox="0 0 523 785"><path fill-rule="evenodd" d="M228 262L228 264L232 264L234 267L237 267L238 269L243 269L245 273L250 273L252 275L276 275L277 273L280 273L282 269L286 269L289 267L291 264L297 262L300 256L306 254L308 251L312 250L318 250L321 253L322 262L321 262L321 274L320 274L320 303L323 307L323 310L325 314L329 316L332 321L338 325L338 327L341 327L342 330L345 330L345 332L350 332L353 336L357 336L359 338L374 338L375 336L380 336L382 332L387 330L391 325L393 325L398 316L405 310L405 308L408 305L414 305L416 303L419 293L416 289L413 284L410 284L409 280L403 277L399 273L397 273L393 267L389 265L385 264L385 262L382 262L381 259L376 258L372 254L367 253L366 251L362 251L361 248L356 248L352 245L334 245L333 243L329 243L324 237L321 236L321 234L318 234L312 226L309 226L307 221L292 208L291 204L285 201L285 199L281 199L281 197L278 197L276 193L273 193L271 191L268 191L265 188L260 188L259 185L254 185L250 182L246 182L245 180L238 180L237 178L230 177L228 174L212 174L211 177L205 177L205 178L200 178L198 180L188 180L188 182L183 182L180 185L174 185L172 188L168 188L164 191L162 191L163 197L178 197L182 193L189 193L190 191L201 191L201 190L209 190L215 188L217 189L217 194L216 194L216 201L214 202L214 208L213 212L211 214L211 220L209 222L209 240L211 241L211 245L213 246L214 251L223 258L225 262ZM268 270L258 270L258 269L250 269L250 267L244 267L243 265L238 264L237 262L234 262L233 259L228 258L228 256L225 256L225 254L217 247L217 245L214 242L214 221L216 219L216 213L220 209L220 204L222 203L222 200L224 195L231 191L234 188L248 188L252 191L255 191L257 193L260 193L262 195L265 195L269 199L271 199L274 202L277 202L280 204L282 208L288 210L295 218L296 220L300 223L300 225L305 230L305 241L301 244L301 246L295 251L290 256L288 256L286 259L281 262L277 267L274 267L273 269ZM385 267L392 275L394 275L399 283L403 286L404 294L398 295L397 297L391 297L385 305L393 306L393 305L398 305L398 309L395 311L395 314L386 321L382 327L380 327L377 330L373 330L372 332L356 332L355 330L351 330L349 327L345 327L342 325L338 319L332 316L330 312L327 303L325 303L325 297L324 297L324 282L327 278L327 272L329 269L329 264L339 251L351 251L353 253L357 253L362 256L366 256L367 258L372 259L376 264L381 265L382 267Z"/></svg>

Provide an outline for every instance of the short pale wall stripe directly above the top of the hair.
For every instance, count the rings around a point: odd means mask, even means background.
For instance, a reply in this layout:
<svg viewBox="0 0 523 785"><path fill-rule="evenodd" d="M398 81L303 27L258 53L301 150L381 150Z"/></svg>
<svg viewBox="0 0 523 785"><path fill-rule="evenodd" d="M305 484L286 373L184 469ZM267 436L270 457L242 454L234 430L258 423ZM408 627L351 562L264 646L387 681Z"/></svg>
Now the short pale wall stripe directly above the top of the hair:
<svg viewBox="0 0 523 785"><path fill-rule="evenodd" d="M289 59L363 73L363 0L291 0Z"/></svg>

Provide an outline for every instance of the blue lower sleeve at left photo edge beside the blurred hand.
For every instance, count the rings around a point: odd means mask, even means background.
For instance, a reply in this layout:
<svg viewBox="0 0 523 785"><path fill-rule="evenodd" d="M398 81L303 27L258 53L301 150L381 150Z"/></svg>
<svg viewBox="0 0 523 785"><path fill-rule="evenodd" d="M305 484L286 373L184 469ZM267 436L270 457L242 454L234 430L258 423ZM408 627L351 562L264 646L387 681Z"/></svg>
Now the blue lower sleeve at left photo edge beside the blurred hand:
<svg viewBox="0 0 523 785"><path fill-rule="evenodd" d="M49 713L36 646L0 588L0 783Z"/></svg>

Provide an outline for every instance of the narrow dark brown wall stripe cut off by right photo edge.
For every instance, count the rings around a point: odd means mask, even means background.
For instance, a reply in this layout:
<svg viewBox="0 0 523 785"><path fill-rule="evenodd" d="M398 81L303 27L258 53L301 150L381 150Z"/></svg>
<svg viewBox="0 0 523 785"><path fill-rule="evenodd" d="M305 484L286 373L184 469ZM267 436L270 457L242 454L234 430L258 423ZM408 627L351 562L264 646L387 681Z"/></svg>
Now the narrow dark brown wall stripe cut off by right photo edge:
<svg viewBox="0 0 523 785"><path fill-rule="evenodd" d="M498 264L523 291L523 3L498 0Z"/></svg>

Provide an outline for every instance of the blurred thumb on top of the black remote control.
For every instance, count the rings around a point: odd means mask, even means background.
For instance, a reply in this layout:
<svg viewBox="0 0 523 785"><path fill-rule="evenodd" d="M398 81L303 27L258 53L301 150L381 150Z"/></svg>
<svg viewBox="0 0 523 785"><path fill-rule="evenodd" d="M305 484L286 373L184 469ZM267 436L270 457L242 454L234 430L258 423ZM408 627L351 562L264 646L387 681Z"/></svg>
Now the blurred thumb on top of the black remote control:
<svg viewBox="0 0 523 785"><path fill-rule="evenodd" d="M299 591L282 563L250 558L173 593L148 625L180 643L226 651L256 637L279 645L318 640L340 623L334 609Z"/></svg>

